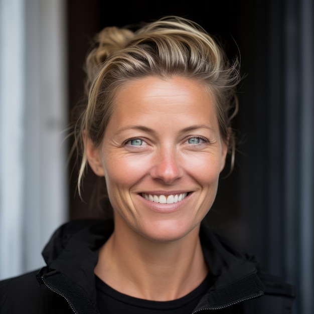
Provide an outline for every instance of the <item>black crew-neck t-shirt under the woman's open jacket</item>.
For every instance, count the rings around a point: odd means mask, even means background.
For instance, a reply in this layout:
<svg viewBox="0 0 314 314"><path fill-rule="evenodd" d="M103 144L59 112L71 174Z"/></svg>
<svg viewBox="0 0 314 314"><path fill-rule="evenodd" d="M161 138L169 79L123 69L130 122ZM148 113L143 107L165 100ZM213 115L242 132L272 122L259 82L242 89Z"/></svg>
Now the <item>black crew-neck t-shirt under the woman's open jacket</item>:
<svg viewBox="0 0 314 314"><path fill-rule="evenodd" d="M208 275L189 294L172 301L150 301L120 293L96 276L97 306L108 314L191 314L212 284Z"/></svg>

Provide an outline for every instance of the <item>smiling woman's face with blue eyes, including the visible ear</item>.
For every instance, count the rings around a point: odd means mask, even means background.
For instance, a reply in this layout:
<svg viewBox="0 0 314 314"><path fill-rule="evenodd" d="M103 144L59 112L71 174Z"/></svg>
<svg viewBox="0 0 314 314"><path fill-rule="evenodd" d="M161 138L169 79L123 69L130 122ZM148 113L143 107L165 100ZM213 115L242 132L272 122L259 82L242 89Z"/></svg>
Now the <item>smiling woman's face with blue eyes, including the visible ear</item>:
<svg viewBox="0 0 314 314"><path fill-rule="evenodd" d="M105 176L115 228L174 241L199 226L227 153L213 102L202 85L180 77L121 89L102 146L87 147L93 170Z"/></svg>

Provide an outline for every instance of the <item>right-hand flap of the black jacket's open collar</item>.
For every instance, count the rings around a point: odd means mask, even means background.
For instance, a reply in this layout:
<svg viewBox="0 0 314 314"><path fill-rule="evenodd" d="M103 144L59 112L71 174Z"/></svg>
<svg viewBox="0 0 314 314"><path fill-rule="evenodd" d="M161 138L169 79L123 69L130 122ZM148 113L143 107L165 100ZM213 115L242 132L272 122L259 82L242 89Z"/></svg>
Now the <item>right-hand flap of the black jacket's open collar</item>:
<svg viewBox="0 0 314 314"><path fill-rule="evenodd" d="M258 263L226 239L201 225L204 257L214 276L214 284L198 304L199 309L220 309L264 294L257 275Z"/></svg>

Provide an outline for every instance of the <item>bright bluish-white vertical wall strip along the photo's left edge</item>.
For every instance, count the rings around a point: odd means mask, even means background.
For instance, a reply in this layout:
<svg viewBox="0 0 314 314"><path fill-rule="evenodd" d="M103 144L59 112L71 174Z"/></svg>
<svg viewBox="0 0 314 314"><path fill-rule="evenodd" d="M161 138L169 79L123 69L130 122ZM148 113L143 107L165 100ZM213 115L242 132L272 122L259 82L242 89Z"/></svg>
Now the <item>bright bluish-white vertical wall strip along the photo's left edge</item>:
<svg viewBox="0 0 314 314"><path fill-rule="evenodd" d="M22 271L24 0L0 1L0 278Z"/></svg>

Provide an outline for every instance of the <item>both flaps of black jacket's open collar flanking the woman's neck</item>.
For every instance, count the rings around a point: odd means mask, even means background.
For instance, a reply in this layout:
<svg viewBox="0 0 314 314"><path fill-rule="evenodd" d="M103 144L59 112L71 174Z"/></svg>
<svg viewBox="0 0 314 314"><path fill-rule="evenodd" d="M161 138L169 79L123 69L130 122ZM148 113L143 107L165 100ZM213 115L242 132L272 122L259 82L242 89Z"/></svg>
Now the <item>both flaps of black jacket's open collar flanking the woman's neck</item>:
<svg viewBox="0 0 314 314"><path fill-rule="evenodd" d="M113 222L80 220L60 227L43 250L47 267L38 279L63 295L74 311L97 312L94 268L98 249L113 231ZM223 308L263 294L256 261L201 225L205 259L215 277L198 309Z"/></svg>

